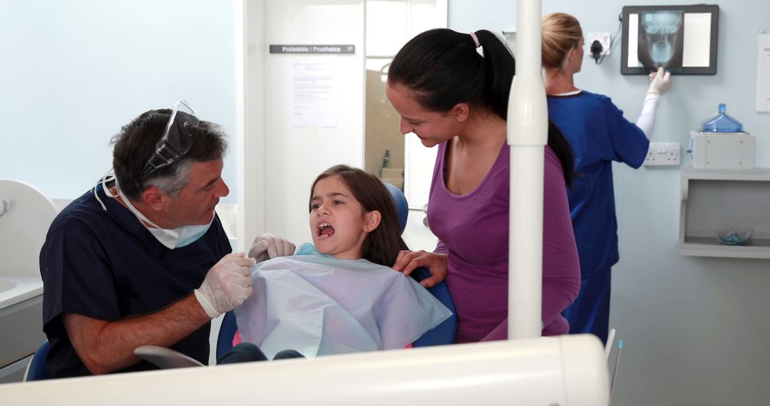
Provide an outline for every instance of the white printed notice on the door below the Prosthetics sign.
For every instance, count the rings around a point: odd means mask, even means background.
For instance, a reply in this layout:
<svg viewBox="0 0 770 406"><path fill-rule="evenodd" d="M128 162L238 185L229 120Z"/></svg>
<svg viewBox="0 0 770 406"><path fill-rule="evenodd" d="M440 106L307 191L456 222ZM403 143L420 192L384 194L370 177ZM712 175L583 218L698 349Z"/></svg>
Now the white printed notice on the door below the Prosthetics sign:
<svg viewBox="0 0 770 406"><path fill-rule="evenodd" d="M294 64L292 85L293 127L337 126L336 75L333 64Z"/></svg>

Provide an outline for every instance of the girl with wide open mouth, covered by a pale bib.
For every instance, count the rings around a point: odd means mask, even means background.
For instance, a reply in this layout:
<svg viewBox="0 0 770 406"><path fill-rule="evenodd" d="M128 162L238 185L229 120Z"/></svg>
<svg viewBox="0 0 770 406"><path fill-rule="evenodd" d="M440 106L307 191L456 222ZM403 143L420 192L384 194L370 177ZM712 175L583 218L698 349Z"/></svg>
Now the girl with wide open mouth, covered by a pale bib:
<svg viewBox="0 0 770 406"><path fill-rule="evenodd" d="M336 165L310 189L313 245L257 265L239 335L272 357L403 348L451 312L390 265L407 249L382 181ZM236 336L235 342L238 341Z"/></svg>

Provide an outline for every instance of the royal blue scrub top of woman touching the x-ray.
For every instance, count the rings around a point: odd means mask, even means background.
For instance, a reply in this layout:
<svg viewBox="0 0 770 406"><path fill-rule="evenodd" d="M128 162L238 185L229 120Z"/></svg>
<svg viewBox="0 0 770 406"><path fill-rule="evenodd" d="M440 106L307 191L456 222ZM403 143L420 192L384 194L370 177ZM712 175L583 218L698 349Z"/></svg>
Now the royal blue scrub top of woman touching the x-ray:
<svg viewBox="0 0 770 406"><path fill-rule="evenodd" d="M567 188L581 276L618 262L618 222L612 187L612 161L638 168L650 141L641 128L604 95L548 96L548 117L574 152L574 181Z"/></svg>

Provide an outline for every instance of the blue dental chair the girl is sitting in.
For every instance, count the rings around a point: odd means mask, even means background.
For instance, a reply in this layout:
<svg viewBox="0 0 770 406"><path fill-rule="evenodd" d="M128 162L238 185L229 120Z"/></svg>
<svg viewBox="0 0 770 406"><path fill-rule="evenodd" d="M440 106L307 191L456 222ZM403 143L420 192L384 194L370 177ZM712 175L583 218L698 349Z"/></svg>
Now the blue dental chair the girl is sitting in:
<svg viewBox="0 0 770 406"><path fill-rule="evenodd" d="M407 228L407 218L409 217L409 205L403 191L390 183L383 182L393 196L393 202L396 204L396 215L398 217L398 227L401 233ZM422 281L430 276L427 268L417 268L413 271L417 275L417 281ZM443 321L422 337L417 338L412 343L412 347L428 347L431 345L454 344L454 337L457 334L457 311L454 308L454 302L449 295L449 288L444 282L440 282L433 288L428 288L431 295L434 295L444 306L452 312L450 318ZM236 315L233 311L228 311L222 320L222 326L219 328L219 335L216 339L216 359L222 358L227 351L233 349L233 337L235 337L238 326L236 325Z"/></svg>

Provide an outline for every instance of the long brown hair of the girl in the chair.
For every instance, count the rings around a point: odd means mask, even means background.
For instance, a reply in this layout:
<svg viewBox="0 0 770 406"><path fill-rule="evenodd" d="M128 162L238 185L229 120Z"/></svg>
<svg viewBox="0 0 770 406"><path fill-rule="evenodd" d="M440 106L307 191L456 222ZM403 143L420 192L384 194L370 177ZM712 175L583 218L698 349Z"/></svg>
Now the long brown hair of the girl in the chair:
<svg viewBox="0 0 770 406"><path fill-rule="evenodd" d="M403 242L403 238L401 238L396 215L396 204L393 203L390 191L387 190L377 176L359 168L335 165L323 171L313 181L313 186L310 187L310 199L313 198L313 189L316 188L316 183L323 178L329 178L334 175L340 176L343 183L350 188L353 198L360 203L363 210L380 211L380 225L363 240L361 256L375 264L388 267L393 266L396 263L398 251L409 248L407 248L407 243ZM309 206L310 211L313 211L312 201Z"/></svg>

